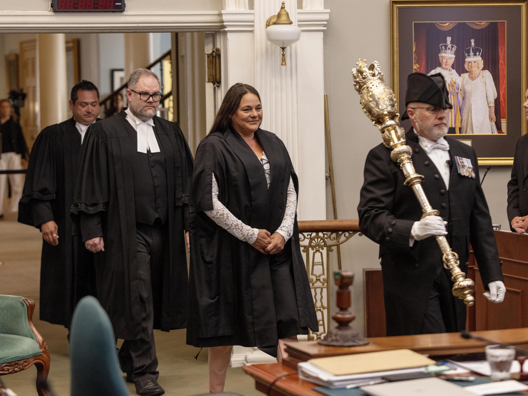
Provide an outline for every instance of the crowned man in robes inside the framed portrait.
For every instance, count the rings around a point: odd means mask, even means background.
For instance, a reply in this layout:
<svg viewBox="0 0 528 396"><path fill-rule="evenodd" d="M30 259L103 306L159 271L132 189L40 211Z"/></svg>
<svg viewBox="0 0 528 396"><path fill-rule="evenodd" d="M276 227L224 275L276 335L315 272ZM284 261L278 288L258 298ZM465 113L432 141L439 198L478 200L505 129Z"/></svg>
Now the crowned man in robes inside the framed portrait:
<svg viewBox="0 0 528 396"><path fill-rule="evenodd" d="M451 37L447 37L447 42L440 44L440 53L438 58L440 60L440 66L428 74L441 73L446 80L447 90L449 92L449 102L453 105L453 108L449 110L448 114L448 134L459 134L460 133L460 108L462 105L462 96L460 93L461 79L455 69L451 66L455 62L455 51L457 46L451 44Z"/></svg>

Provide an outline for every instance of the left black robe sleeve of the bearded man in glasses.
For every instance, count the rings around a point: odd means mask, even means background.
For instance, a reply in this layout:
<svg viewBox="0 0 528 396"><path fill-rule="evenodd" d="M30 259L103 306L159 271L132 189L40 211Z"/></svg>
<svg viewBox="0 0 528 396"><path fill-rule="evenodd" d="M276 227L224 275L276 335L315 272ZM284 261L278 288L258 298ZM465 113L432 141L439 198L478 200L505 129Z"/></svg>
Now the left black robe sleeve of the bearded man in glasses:
<svg viewBox="0 0 528 396"><path fill-rule="evenodd" d="M108 150L101 125L86 131L73 195L72 218L80 224L82 240L100 237L102 216L109 201Z"/></svg>

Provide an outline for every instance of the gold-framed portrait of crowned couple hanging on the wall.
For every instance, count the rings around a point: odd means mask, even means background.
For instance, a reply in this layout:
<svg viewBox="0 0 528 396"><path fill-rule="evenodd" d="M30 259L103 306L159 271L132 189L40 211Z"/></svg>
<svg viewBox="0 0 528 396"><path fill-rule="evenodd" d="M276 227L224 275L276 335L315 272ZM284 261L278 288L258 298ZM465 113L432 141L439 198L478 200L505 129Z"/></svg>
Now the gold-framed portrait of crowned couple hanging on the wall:
<svg viewBox="0 0 528 396"><path fill-rule="evenodd" d="M391 81L400 114L409 74L441 73L452 105L449 136L472 146L479 165L512 165L527 132L527 15L526 0L392 0Z"/></svg>

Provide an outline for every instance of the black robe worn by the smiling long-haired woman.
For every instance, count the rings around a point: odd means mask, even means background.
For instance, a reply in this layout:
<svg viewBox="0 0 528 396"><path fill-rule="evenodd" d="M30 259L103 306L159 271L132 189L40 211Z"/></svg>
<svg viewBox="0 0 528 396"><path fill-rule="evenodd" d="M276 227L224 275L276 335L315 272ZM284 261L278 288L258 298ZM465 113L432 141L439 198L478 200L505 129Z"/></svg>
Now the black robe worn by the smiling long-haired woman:
<svg viewBox="0 0 528 396"><path fill-rule="evenodd" d="M191 266L187 344L194 346L274 346L278 343L270 258L209 218L212 174L219 200L252 228L274 233L286 210L290 176L297 175L284 143L266 130L255 133L268 156L271 184L257 156L231 128L205 137L196 151L189 204ZM318 331L295 219L291 263L301 327Z"/></svg>

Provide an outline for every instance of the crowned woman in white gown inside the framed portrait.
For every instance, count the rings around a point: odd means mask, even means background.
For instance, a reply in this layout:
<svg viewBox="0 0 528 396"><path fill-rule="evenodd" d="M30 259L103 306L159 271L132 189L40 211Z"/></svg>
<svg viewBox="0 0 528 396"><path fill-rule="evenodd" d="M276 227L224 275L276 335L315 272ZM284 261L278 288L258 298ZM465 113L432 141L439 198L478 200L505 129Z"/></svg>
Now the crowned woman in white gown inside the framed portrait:
<svg viewBox="0 0 528 396"><path fill-rule="evenodd" d="M462 74L462 133L463 134L496 134L495 99L497 89L492 74L484 68L482 48L471 46L464 51L468 73Z"/></svg>

